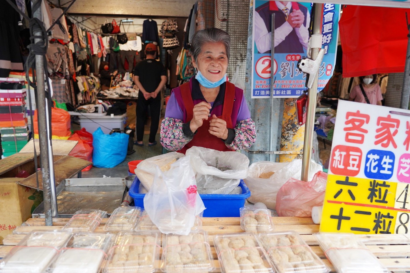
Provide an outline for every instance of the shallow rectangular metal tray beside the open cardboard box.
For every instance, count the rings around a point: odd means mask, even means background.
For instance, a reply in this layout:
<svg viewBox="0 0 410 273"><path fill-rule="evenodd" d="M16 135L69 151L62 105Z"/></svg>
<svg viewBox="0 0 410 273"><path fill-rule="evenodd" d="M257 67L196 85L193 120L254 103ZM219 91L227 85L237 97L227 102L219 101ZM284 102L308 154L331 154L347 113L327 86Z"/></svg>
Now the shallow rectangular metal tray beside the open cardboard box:
<svg viewBox="0 0 410 273"><path fill-rule="evenodd" d="M69 178L56 187L59 217L72 217L80 209L98 209L107 215L121 206L125 194L125 178ZM44 202L32 213L43 218Z"/></svg>

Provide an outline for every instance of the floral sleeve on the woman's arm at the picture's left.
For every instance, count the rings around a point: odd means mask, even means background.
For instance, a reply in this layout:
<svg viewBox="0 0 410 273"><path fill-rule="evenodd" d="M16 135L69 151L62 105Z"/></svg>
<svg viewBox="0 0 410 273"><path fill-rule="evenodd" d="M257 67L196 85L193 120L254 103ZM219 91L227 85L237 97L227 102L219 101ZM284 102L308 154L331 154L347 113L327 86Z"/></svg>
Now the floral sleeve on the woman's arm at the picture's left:
<svg viewBox="0 0 410 273"><path fill-rule="evenodd" d="M192 138L187 137L182 131L182 120L166 117L162 120L160 131L160 142L162 146L170 151L178 151Z"/></svg>

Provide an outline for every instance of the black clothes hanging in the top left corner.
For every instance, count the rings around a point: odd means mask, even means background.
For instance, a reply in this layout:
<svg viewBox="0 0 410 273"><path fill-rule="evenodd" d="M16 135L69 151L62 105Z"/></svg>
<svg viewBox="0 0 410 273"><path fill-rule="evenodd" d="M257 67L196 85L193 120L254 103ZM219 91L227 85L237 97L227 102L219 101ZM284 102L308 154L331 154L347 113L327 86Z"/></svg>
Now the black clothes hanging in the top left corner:
<svg viewBox="0 0 410 273"><path fill-rule="evenodd" d="M12 0L14 4L15 0ZM3 5L0 10L0 77L9 77L11 70L23 70L23 63L18 45L18 21L20 16L10 5Z"/></svg>

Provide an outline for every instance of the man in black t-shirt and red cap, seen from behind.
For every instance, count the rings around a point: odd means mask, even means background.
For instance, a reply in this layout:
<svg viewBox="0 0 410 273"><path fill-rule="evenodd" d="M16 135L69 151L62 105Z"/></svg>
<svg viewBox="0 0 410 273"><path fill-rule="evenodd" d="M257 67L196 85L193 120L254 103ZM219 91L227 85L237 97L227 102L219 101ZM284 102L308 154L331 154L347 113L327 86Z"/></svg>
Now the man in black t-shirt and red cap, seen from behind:
<svg viewBox="0 0 410 273"><path fill-rule="evenodd" d="M139 88L137 102L137 125L135 145L144 146L144 123L148 105L150 106L151 128L148 146L157 144L155 135L158 131L159 115L161 113L161 96L158 95L166 83L166 70L162 63L155 60L157 46L149 43L145 47L146 59L137 63L134 70L134 83Z"/></svg>

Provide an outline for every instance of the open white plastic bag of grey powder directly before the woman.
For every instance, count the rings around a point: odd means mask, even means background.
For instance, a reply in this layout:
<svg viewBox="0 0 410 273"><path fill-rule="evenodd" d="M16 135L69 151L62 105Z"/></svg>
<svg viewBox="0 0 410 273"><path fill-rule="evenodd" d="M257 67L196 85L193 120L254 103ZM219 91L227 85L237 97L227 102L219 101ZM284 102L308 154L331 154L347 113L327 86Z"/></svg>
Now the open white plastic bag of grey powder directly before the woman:
<svg viewBox="0 0 410 273"><path fill-rule="evenodd" d="M249 159L239 152L194 146L185 154L191 157L201 194L229 194L248 176Z"/></svg>

